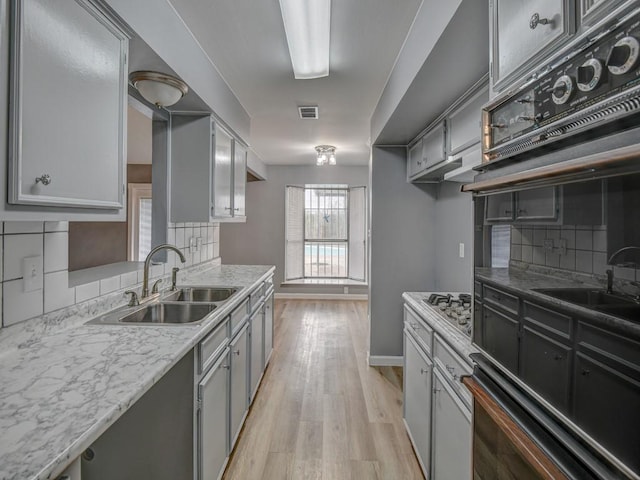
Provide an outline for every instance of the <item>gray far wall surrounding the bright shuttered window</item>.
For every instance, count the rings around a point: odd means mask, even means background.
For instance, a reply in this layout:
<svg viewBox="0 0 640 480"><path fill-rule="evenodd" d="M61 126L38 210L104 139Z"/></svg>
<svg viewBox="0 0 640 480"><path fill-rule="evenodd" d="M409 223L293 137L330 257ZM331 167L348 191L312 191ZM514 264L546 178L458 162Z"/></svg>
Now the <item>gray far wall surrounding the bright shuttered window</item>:
<svg viewBox="0 0 640 480"><path fill-rule="evenodd" d="M275 265L276 292L342 293L336 287L283 288L285 187L343 183L367 185L367 167L268 165L267 180L247 183L247 222L220 225L220 256L225 264ZM350 288L349 293L366 293Z"/></svg>

